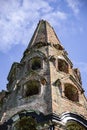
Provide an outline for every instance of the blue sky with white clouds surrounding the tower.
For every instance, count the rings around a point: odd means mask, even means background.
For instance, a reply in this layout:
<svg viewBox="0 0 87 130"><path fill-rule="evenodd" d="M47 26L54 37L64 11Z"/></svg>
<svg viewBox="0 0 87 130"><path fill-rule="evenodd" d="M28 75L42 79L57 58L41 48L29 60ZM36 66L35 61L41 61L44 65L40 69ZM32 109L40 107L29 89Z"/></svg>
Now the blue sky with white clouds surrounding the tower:
<svg viewBox="0 0 87 130"><path fill-rule="evenodd" d="M0 0L0 91L41 19L53 26L74 68L80 69L87 97L87 0Z"/></svg>

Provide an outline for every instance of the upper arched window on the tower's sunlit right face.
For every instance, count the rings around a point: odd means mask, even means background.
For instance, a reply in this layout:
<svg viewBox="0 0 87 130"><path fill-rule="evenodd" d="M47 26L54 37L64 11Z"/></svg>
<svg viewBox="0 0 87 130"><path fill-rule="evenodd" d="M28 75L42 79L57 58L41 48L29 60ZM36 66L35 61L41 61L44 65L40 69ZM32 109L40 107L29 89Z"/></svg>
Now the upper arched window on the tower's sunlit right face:
<svg viewBox="0 0 87 130"><path fill-rule="evenodd" d="M68 63L62 59L58 59L58 70L68 73Z"/></svg>

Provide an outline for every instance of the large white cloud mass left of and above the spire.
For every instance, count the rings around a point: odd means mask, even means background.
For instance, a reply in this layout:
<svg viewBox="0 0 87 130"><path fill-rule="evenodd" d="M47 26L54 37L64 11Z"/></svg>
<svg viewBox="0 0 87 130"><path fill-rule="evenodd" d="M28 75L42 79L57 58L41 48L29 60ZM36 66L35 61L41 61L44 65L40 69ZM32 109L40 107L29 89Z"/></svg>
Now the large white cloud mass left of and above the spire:
<svg viewBox="0 0 87 130"><path fill-rule="evenodd" d="M67 19L66 13L44 0L0 0L0 5L0 51L3 52L16 44L28 44L39 19L51 19L52 25L58 19Z"/></svg>

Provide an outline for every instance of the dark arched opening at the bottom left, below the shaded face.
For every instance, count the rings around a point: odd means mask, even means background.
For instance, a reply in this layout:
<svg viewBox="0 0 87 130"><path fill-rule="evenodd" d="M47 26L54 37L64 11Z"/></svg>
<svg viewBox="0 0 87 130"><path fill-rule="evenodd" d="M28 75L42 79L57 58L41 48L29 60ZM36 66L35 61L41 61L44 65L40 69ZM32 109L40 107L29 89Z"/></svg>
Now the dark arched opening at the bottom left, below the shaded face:
<svg viewBox="0 0 87 130"><path fill-rule="evenodd" d="M15 124L16 130L37 130L36 121L32 117L23 117Z"/></svg>

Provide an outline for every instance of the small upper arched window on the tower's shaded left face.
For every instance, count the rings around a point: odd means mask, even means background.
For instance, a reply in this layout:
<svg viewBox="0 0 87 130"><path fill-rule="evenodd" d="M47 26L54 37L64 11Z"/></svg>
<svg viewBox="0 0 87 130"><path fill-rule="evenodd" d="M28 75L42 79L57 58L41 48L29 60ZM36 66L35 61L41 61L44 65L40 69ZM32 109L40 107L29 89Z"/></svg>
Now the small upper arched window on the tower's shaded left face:
<svg viewBox="0 0 87 130"><path fill-rule="evenodd" d="M38 69L41 69L41 67L42 67L41 58L35 57L31 60L31 69L32 70L38 70Z"/></svg>

